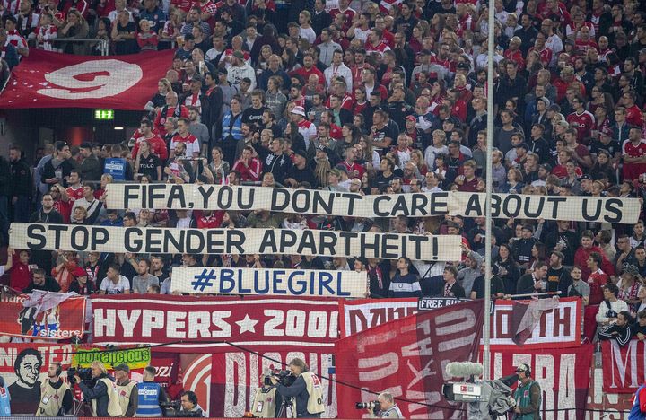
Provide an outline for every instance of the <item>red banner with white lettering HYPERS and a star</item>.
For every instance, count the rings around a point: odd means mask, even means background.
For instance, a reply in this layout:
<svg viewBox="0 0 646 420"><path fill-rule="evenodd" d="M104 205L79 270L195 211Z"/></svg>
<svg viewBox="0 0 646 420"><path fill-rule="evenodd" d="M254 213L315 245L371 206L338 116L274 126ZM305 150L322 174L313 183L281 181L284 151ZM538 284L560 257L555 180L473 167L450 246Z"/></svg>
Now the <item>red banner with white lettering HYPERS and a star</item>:
<svg viewBox="0 0 646 420"><path fill-rule="evenodd" d="M231 351L228 342L332 349L338 337L334 299L120 295L92 299L92 313L94 344L173 344L160 351Z"/></svg>

